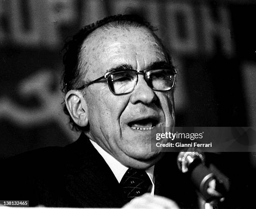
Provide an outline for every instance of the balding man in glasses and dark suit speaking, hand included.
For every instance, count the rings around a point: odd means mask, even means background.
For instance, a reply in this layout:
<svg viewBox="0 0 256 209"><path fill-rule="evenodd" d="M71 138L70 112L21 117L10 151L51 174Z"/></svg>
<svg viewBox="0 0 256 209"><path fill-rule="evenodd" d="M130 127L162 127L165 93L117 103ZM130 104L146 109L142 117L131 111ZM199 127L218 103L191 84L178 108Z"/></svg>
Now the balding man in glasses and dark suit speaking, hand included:
<svg viewBox="0 0 256 209"><path fill-rule="evenodd" d="M151 151L151 130L175 123L176 74L152 26L133 15L86 26L66 44L64 65L65 112L82 134L64 148L4 161L0 199L30 206L197 207L177 154Z"/></svg>

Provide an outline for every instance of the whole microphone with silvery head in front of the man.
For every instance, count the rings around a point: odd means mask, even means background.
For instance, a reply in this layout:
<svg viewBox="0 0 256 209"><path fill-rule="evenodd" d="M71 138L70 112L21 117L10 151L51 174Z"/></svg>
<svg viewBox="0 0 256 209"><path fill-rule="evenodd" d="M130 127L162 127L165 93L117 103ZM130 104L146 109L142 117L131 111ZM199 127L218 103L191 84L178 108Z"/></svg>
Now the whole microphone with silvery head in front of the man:
<svg viewBox="0 0 256 209"><path fill-rule="evenodd" d="M189 175L206 202L225 200L227 191L223 181L205 166L205 155L202 151L189 148L187 151L179 152L177 164L182 173Z"/></svg>

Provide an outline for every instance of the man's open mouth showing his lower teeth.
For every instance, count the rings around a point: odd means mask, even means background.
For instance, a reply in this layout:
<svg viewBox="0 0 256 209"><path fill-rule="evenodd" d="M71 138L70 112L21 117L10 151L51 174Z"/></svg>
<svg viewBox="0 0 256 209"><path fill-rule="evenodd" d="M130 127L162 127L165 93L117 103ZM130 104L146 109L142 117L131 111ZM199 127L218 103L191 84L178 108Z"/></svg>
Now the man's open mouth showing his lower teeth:
<svg viewBox="0 0 256 209"><path fill-rule="evenodd" d="M127 125L135 130L151 130L156 127L158 121L153 118L145 118L137 121L129 122Z"/></svg>

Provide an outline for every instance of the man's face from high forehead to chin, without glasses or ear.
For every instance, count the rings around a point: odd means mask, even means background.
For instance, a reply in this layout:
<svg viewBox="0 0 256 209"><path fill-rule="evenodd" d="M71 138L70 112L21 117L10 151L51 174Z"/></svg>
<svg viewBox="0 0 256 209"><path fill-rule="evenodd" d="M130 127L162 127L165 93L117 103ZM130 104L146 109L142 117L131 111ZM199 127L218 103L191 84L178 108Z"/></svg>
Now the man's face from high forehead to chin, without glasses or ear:
<svg viewBox="0 0 256 209"><path fill-rule="evenodd" d="M86 83L124 64L144 71L155 63L169 63L159 41L146 28L98 28L83 46ZM160 158L158 153L151 152L150 128L174 126L172 90L154 91L139 74L131 93L114 95L102 80L85 90L84 99L90 123L87 136L115 159L125 166L145 169Z"/></svg>

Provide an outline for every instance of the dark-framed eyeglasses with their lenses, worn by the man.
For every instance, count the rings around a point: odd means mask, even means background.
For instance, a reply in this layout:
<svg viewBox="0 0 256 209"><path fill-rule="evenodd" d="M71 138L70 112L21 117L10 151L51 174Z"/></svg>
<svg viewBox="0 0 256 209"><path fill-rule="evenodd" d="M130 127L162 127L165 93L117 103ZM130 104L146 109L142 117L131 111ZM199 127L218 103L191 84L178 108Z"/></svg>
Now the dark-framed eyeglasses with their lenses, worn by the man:
<svg viewBox="0 0 256 209"><path fill-rule="evenodd" d="M78 89L82 90L83 88L87 88L93 83L97 83L105 78L108 87L113 94L128 94L135 89L138 83L138 74L143 74L144 80L151 89L156 91L168 91L174 86L176 73L177 71L175 69L157 69L143 72L135 70L108 72L104 76L97 78Z"/></svg>

